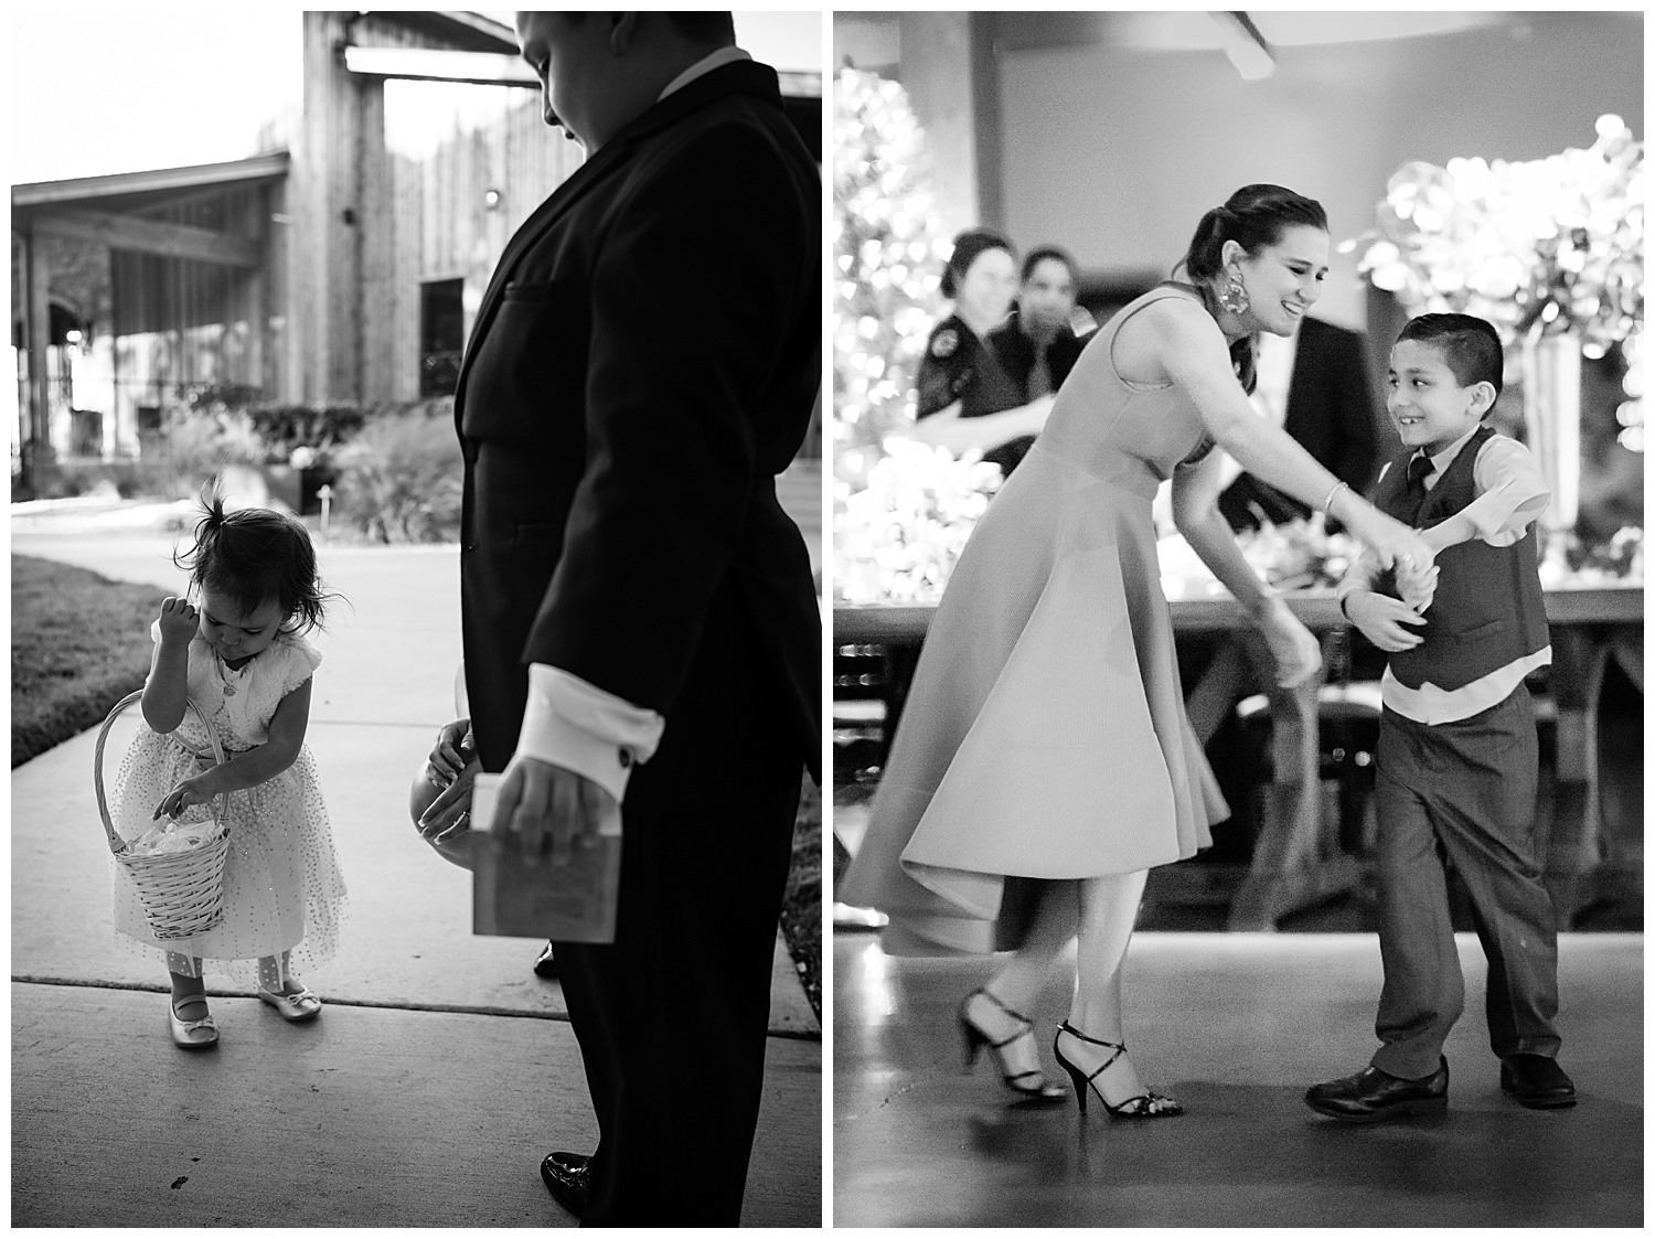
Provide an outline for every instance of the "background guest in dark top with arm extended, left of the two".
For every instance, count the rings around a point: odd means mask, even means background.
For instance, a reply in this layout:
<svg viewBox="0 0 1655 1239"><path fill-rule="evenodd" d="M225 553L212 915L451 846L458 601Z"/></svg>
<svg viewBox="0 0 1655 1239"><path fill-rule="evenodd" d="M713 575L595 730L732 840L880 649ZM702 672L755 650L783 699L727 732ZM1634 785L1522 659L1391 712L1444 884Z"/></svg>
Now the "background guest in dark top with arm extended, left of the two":
<svg viewBox="0 0 1655 1239"><path fill-rule="evenodd" d="M955 455L976 448L1003 473L1023 460L1051 412L1051 397L1029 402L988 346L1011 309L1016 270L1011 242L1000 233L968 228L953 238L942 273L953 313L925 341L914 392L914 438Z"/></svg>

